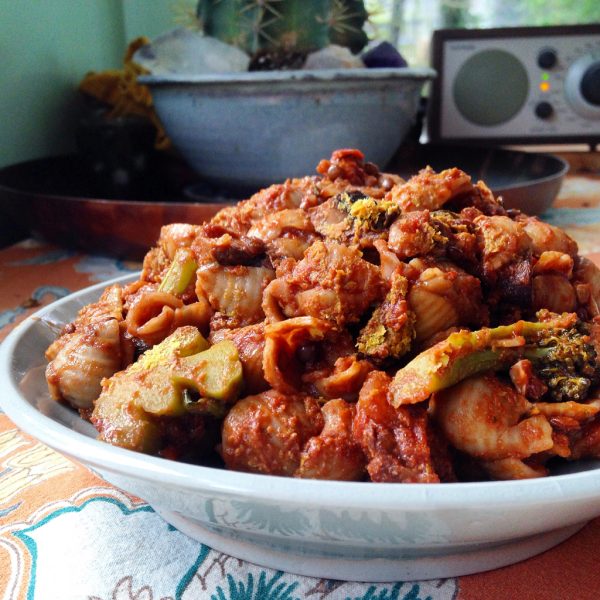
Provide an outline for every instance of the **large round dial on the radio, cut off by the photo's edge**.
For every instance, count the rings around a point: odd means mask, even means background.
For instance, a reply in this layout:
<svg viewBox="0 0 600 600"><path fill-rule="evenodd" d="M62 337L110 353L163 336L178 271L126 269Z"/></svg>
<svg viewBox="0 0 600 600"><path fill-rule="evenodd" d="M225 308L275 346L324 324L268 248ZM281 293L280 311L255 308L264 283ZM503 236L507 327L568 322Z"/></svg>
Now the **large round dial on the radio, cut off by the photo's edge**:
<svg viewBox="0 0 600 600"><path fill-rule="evenodd" d="M573 110L588 119L600 119L600 58L586 54L567 71L567 100Z"/></svg>

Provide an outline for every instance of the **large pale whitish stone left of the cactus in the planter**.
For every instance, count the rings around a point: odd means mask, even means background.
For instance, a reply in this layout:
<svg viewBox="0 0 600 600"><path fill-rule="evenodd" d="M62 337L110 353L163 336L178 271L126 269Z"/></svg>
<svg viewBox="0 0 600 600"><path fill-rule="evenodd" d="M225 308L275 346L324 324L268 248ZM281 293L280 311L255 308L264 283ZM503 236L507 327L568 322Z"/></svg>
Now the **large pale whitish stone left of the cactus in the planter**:
<svg viewBox="0 0 600 600"><path fill-rule="evenodd" d="M140 48L133 59L152 75L247 71L250 57L234 46L198 31L173 29Z"/></svg>

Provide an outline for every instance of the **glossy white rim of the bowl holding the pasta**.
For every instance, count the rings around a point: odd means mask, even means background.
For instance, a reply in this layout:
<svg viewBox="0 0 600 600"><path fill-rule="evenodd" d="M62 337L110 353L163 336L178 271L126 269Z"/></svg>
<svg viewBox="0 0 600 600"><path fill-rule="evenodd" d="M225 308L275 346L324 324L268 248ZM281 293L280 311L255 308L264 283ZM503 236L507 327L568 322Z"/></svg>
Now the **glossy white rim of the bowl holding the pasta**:
<svg viewBox="0 0 600 600"><path fill-rule="evenodd" d="M506 509L600 498L600 468L539 479L461 483L372 483L296 479L182 463L111 446L74 431L34 408L19 389L15 352L22 339L57 308L81 307L81 297L126 283L139 273L101 282L65 296L27 317L0 343L0 406L25 433L93 468L192 493L227 495L269 503L355 510L408 511ZM86 299L85 302L91 300ZM75 306L77 307L75 309ZM73 314L73 317L75 314ZM42 351L45 348L41 349ZM37 360L32 356L31 360ZM36 367L32 362L29 367Z"/></svg>

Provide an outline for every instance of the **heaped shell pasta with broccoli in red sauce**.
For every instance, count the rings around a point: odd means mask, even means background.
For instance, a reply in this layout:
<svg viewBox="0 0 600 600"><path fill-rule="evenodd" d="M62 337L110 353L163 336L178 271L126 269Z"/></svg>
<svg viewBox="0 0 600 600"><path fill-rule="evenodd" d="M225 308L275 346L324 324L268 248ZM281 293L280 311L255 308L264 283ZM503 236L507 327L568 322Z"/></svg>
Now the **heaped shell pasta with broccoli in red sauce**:
<svg viewBox="0 0 600 600"><path fill-rule="evenodd" d="M600 457L600 270L463 171L335 151L162 228L48 348L99 439L302 478L455 482Z"/></svg>

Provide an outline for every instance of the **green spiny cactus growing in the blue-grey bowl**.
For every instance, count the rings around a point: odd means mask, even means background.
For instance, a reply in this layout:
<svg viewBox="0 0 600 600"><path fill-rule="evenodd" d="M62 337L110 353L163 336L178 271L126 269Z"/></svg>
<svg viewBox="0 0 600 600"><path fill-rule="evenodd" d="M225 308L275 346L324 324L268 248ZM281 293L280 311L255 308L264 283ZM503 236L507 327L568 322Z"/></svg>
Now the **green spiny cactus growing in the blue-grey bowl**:
<svg viewBox="0 0 600 600"><path fill-rule="evenodd" d="M196 15L207 35L250 55L367 43L363 0L199 0Z"/></svg>

